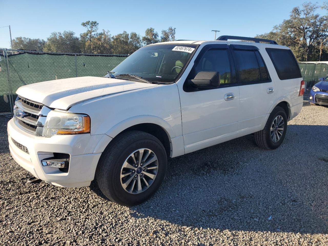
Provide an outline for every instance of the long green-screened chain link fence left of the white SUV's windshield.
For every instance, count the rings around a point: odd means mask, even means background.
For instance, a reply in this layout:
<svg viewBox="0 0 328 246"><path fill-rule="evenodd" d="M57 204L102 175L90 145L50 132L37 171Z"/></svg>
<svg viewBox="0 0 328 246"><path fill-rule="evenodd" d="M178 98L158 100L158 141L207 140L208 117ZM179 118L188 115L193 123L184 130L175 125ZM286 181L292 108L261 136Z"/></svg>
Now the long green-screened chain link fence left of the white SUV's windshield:
<svg viewBox="0 0 328 246"><path fill-rule="evenodd" d="M54 53L0 49L0 114L11 114L16 90L32 83L105 76L128 55Z"/></svg>

